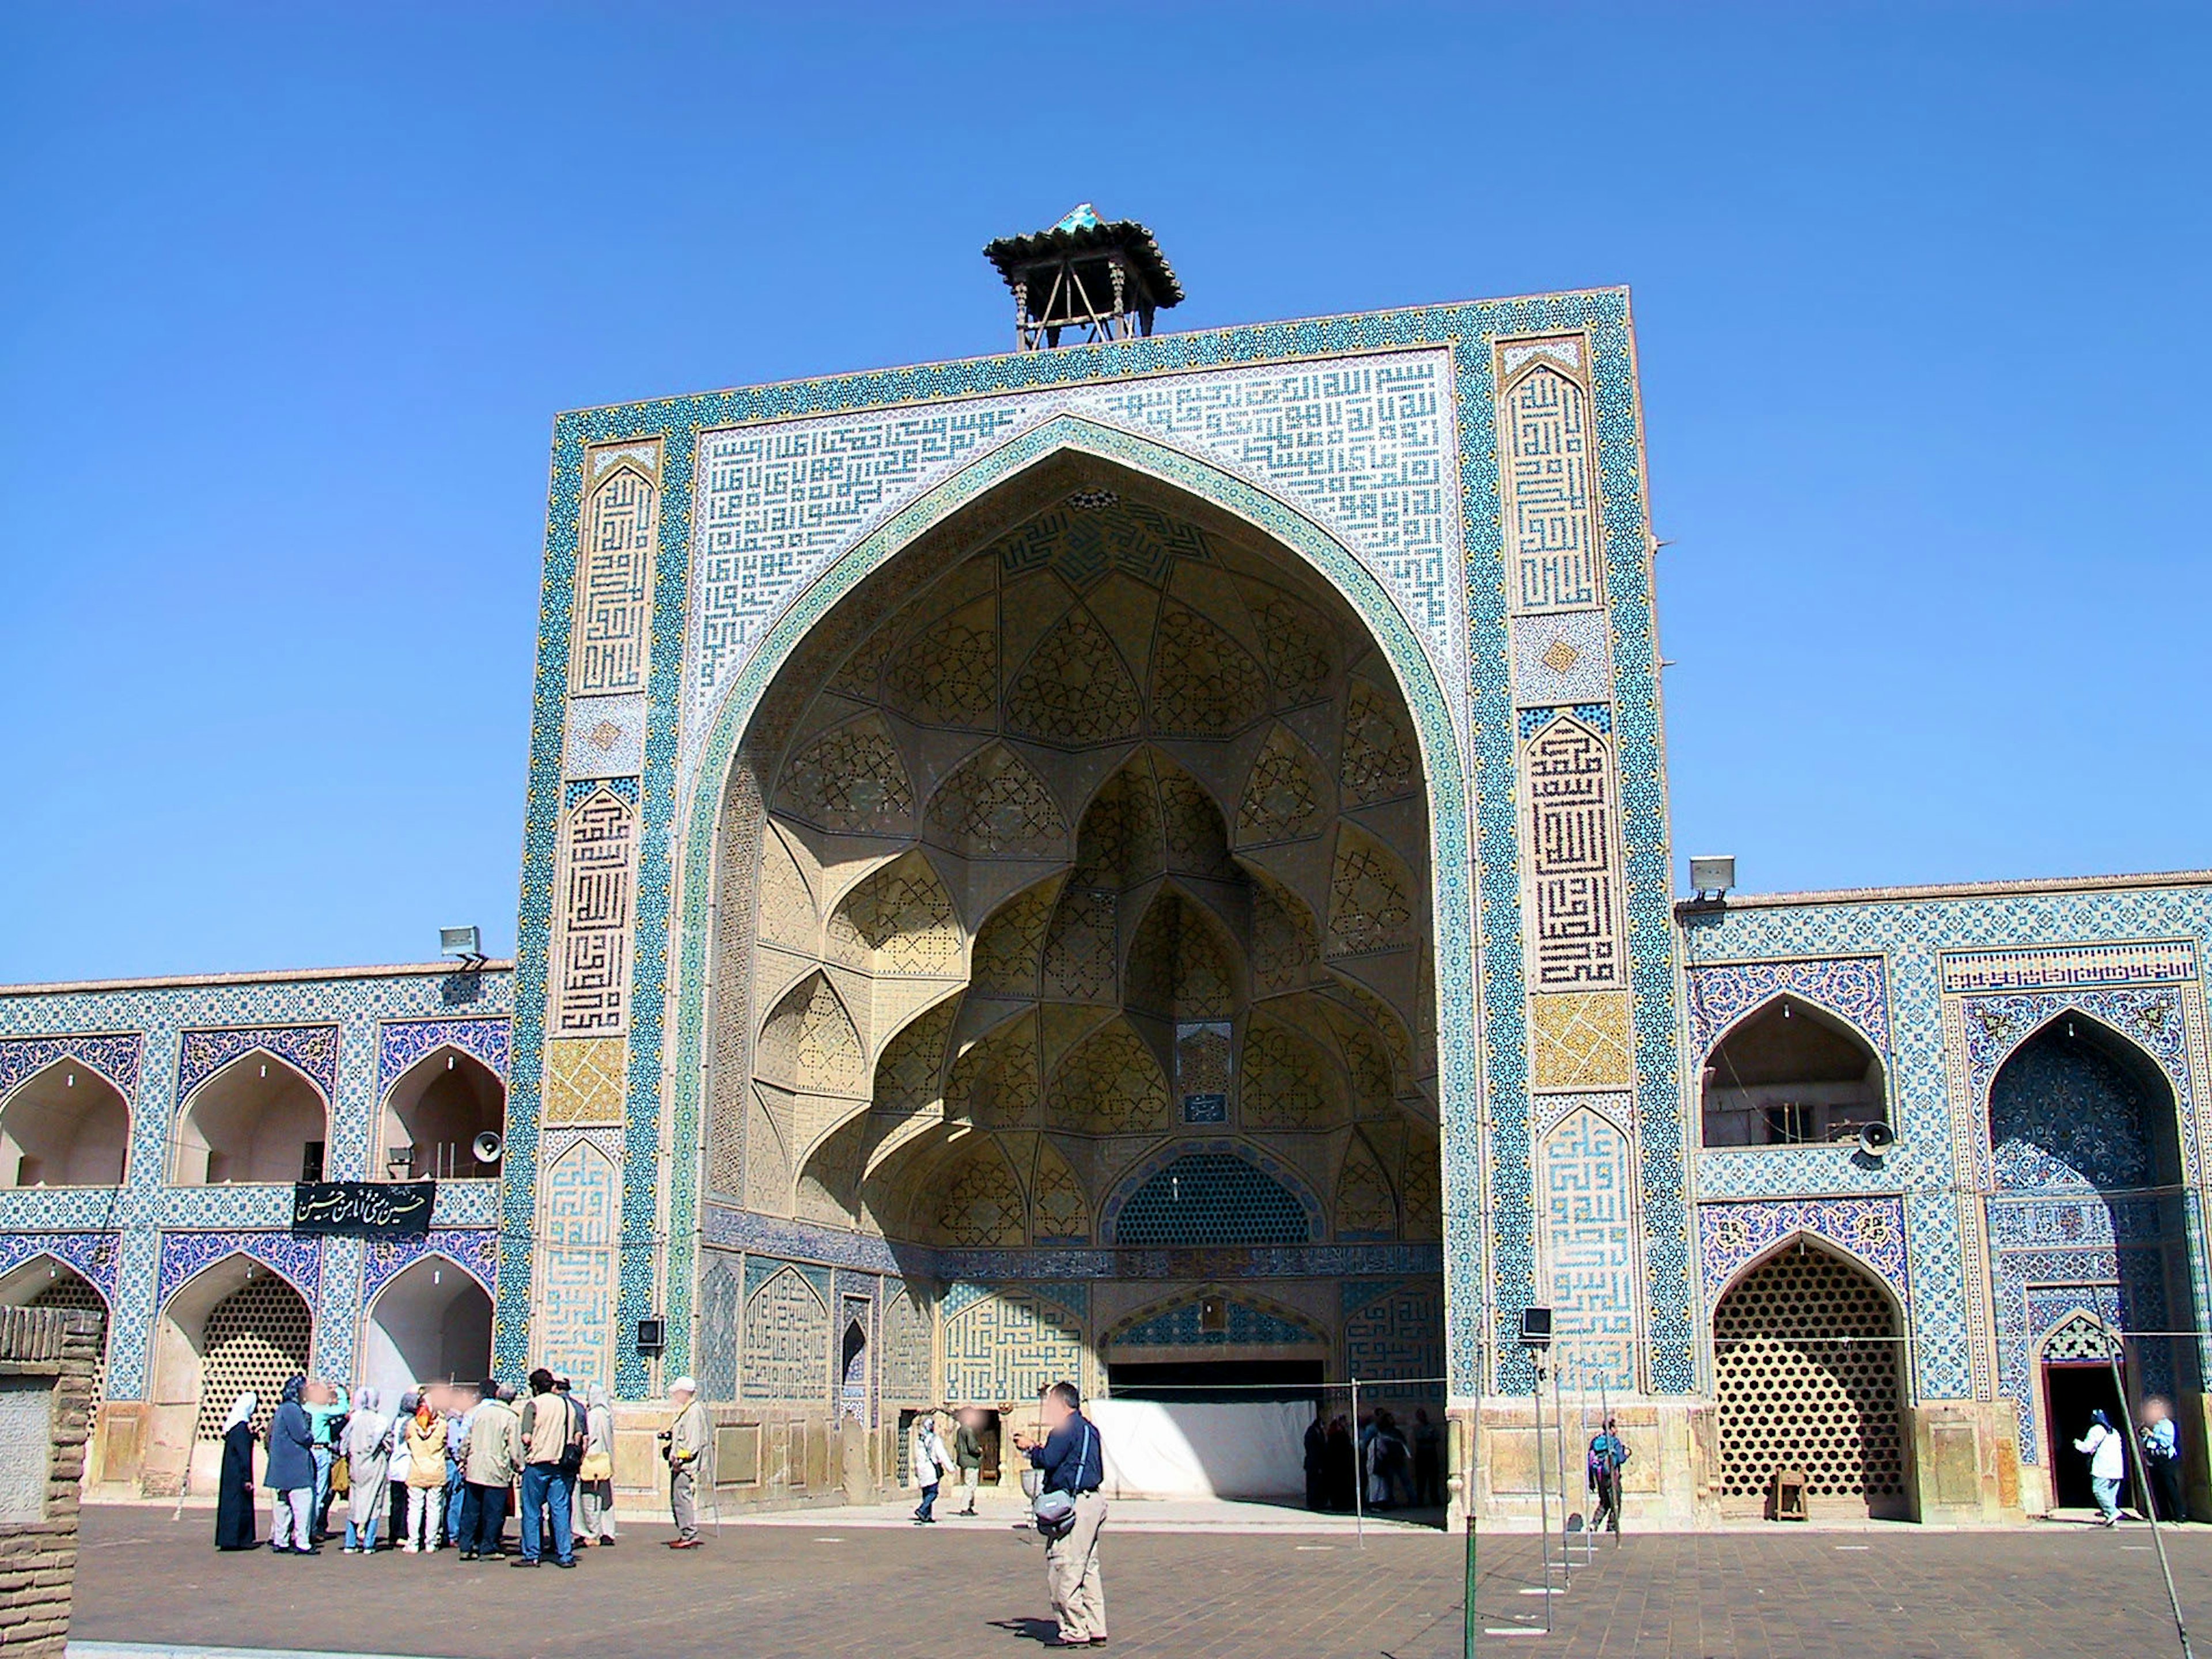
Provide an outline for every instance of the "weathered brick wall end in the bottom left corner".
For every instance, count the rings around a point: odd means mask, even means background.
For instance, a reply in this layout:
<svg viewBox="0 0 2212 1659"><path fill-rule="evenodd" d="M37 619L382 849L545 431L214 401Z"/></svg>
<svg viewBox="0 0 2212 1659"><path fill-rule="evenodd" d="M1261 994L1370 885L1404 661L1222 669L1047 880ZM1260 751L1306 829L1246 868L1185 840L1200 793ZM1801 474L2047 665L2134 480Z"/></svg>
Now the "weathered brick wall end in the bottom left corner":
<svg viewBox="0 0 2212 1659"><path fill-rule="evenodd" d="M0 1648L62 1659L100 1314L0 1307Z"/></svg>

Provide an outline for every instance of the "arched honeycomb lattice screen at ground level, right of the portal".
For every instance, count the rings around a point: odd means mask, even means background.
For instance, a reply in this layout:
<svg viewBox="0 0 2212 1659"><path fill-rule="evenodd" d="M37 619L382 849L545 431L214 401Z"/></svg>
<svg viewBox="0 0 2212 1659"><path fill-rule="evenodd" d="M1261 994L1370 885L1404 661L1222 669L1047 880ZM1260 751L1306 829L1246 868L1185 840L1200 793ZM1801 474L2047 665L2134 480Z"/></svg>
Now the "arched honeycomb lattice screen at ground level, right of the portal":
<svg viewBox="0 0 2212 1659"><path fill-rule="evenodd" d="M1776 1469L1814 1498L1905 1491L1896 1336L1880 1285L1836 1256L1745 1274L1712 1316L1723 1495L1763 1498Z"/></svg>

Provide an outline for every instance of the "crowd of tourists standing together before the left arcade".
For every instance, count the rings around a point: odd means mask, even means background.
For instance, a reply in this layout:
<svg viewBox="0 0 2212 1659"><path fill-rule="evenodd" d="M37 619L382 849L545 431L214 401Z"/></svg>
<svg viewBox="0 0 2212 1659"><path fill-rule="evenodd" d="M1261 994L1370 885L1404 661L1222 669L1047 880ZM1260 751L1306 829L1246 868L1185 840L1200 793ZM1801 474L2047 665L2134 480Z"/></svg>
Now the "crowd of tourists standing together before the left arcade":
<svg viewBox="0 0 2212 1659"><path fill-rule="evenodd" d="M223 1422L217 1548L259 1544L259 1396L241 1394ZM703 1431L692 1436L699 1442ZM568 1378L544 1367L531 1371L526 1391L495 1378L418 1383L389 1411L369 1383L347 1394L294 1376L265 1447L261 1486L274 1500L270 1548L279 1555L321 1555L341 1498L347 1555L372 1555L389 1542L407 1555L451 1546L462 1562L498 1559L509 1509L520 1522L513 1566L540 1566L549 1551L555 1566L575 1566L577 1544L615 1542L615 1418L606 1389L577 1400ZM697 1524L684 1535L697 1542Z"/></svg>

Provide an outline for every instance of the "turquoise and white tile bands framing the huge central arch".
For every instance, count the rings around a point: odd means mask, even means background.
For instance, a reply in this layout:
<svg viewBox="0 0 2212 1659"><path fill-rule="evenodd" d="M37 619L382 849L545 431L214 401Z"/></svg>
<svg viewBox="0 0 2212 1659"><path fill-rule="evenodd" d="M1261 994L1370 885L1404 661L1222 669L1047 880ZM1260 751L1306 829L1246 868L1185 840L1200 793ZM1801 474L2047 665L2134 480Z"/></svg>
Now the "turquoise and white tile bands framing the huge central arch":
<svg viewBox="0 0 2212 1659"><path fill-rule="evenodd" d="M814 619L849 593L867 571L911 542L920 529L1051 449L1077 442L1239 511L1316 562L1378 635L1407 690L1407 703L1422 730L1438 823L1433 858L1442 967L1438 1031L1449 1148L1447 1237L1453 1241L1447 1272L1453 1305L1467 1310L1460 1327L1464 1340L1455 1345L1453 1394L1471 1398L1480 1389L1480 1318L1473 1310L1517 1307L1533 1285L1524 1013L1520 1006L1506 1009L1491 1000L1491 1066L1489 1075L1480 1077L1473 984L1464 978L1469 964L1478 960L1469 883L1480 876L1480 971L1491 984L1520 984L1511 799L1513 697L1502 672L1484 670L1482 684L1475 686L1462 684L1460 672L1460 664L1467 661L1502 666L1506 659L1491 343L1515 334L1579 334L1588 343L1613 622L1613 712L1624 734L1619 770L1637 989L1637 1091L1641 1115L1650 1121L1639 1137L1644 1214L1652 1232L1650 1376L1663 1391L1690 1387L1683 1170L1679 1133L1670 1128L1677 1093L1674 1022L1670 998L1663 993L1672 973L1663 776L1639 471L1641 431L1624 292L1232 327L562 416L555 429L549 498L522 878L515 1157L504 1197L511 1243L500 1274L502 1354L520 1356L529 1310L529 1252L520 1237L529 1228L535 1179L538 1064L568 668L566 624L575 580L584 449L597 442L668 438L641 779L644 847L628 1062L622 1325L628 1327L633 1314L650 1310L653 1241L670 1239L668 1365L681 1365L690 1340L697 1170L690 1157L681 1157L670 1179L659 1181L657 1148L664 1128L677 1146L697 1144L703 920L712 860L686 858L684 891L681 896L672 891L677 818L681 814L688 847L710 845L721 774L734 739L759 690ZM1449 372L1442 380L1427 367L1440 352L1449 352ZM1453 431L1449 409L1436 407L1444 400L1429 389L1431 385L1449 385L1455 394L1455 456L1449 449ZM993 398L998 403L978 403ZM1272 416L1272 427L1270 416L1252 418L1252 411L1263 409L1267 400L1292 407L1298 398L1378 411L1380 425L1369 434L1369 449L1383 458L1374 462L1378 471L1371 476L1371 489L1345 487L1340 469L1354 465L1349 451L1340 456L1329 447L1292 445L1279 416ZM692 524L695 484L701 493L723 489L712 478L692 476L699 431L830 416L845 416L852 427L874 429L885 416L872 411L894 405L898 407L894 418L907 422L911 431L902 431L885 453L911 451L918 460L900 460L905 471L896 478L874 476L865 462L847 453L825 451L818 462L810 462L830 469L823 473L834 480L830 498L810 502L805 513L770 535L761 544L761 566L774 577L772 588L787 575L812 577L812 584L781 611L774 608L774 595L763 588L765 599L754 606L757 615L743 602L737 611L723 613L712 595L737 593L743 584L739 566L726 557L728 549L706 544L708 524ZM1334 409L1323 414L1332 420L1345 418ZM810 445L827 442L836 451L836 422L810 427L799 436ZM1431 453L1438 436L1444 438L1442 456ZM714 465L737 469L752 465L737 453L743 449L745 445L737 442L730 456L717 451ZM823 515L845 513L845 498L858 493L858 484L852 482L856 473L874 491L880 511L872 509L876 518L860 513L845 529L825 529ZM781 478L768 482L783 487ZM1451 491L1458 491L1458 513L1436 513L1433 498ZM695 538L708 549L697 573ZM825 564L816 557L825 544L841 544L847 551ZM708 568L712 562L708 555L730 568ZM1464 564L1464 591L1455 582L1453 560ZM717 586L730 582L739 586ZM701 635L688 650L686 599L695 584L703 584L701 593L710 597L701 599ZM1464 622L1460 622L1462 611ZM1453 639L1453 628L1464 628L1460 635L1464 646ZM714 712L714 719L712 723L692 719L686 730L686 708L697 714ZM1462 730L1469 732L1467 765L1478 785L1473 818L1460 770ZM1480 865L1469 858L1464 843L1469 825L1475 830ZM670 960L670 947L679 953L677 960ZM666 1068L675 1079L668 1104L672 1121L664 1126L659 1079L666 1060L661 1048L670 980L679 989L679 1029L675 1064ZM1493 1146L1484 1148L1498 1172L1491 1225L1478 1221L1480 1168L1478 1157L1464 1150L1475 1144L1478 1086L1489 1088L1498 1124ZM1495 1274L1482 1254L1486 1239L1495 1241ZM1517 1349L1509 1358L1509 1376L1526 1385L1526 1376L1513 1367L1520 1367ZM644 1394L648 1383L650 1371L641 1356L624 1349L617 1363L619 1389L635 1396Z"/></svg>

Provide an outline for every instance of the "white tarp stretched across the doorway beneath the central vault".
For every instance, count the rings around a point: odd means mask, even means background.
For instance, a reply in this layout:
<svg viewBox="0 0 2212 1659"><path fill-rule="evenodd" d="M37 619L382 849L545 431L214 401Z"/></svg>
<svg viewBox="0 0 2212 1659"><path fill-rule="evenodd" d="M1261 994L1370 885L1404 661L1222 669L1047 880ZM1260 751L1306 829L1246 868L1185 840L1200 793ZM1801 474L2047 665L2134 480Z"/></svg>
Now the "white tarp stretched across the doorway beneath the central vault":
<svg viewBox="0 0 2212 1659"><path fill-rule="evenodd" d="M1305 1493L1305 1425L1296 1400L1179 1405L1088 1400L1106 1442L1108 1498L1296 1498Z"/></svg>

